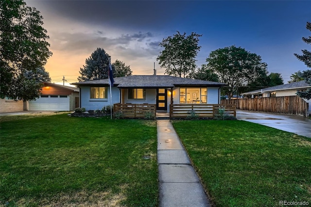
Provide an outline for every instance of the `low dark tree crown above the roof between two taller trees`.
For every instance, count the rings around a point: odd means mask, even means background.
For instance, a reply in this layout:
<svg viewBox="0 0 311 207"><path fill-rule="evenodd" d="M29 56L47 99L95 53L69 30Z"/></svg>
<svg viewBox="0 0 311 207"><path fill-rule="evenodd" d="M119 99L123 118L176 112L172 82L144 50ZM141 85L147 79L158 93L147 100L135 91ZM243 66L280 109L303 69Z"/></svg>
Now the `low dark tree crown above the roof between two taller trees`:
<svg viewBox="0 0 311 207"><path fill-rule="evenodd" d="M219 77L213 72L213 70L208 69L206 64L202 64L201 68L192 69L188 75L188 78L219 82Z"/></svg>

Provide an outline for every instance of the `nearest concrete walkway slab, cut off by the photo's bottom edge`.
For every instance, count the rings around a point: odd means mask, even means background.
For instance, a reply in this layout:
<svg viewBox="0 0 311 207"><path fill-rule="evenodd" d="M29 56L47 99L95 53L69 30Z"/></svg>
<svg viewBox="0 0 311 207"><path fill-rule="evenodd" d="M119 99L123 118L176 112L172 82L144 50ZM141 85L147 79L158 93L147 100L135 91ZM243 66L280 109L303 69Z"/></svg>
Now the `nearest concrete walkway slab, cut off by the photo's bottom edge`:
<svg viewBox="0 0 311 207"><path fill-rule="evenodd" d="M160 207L209 207L201 183L160 183Z"/></svg>

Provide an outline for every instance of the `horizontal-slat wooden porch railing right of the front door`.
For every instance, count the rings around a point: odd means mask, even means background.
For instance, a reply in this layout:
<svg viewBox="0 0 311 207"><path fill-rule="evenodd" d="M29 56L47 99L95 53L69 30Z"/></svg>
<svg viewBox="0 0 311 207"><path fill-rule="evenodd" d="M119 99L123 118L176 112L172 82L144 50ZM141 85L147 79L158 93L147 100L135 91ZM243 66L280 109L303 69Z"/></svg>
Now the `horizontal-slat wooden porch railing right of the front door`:
<svg viewBox="0 0 311 207"><path fill-rule="evenodd" d="M235 104L171 104L170 118L214 118L215 115L236 116Z"/></svg>

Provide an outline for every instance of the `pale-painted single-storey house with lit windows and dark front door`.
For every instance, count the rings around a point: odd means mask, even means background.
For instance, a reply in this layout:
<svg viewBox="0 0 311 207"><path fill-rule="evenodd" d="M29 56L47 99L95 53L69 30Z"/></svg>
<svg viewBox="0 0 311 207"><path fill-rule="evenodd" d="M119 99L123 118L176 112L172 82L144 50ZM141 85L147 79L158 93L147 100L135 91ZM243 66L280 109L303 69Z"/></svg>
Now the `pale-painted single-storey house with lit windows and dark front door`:
<svg viewBox="0 0 311 207"><path fill-rule="evenodd" d="M156 104L156 110L165 112L169 112L170 104L219 104L220 88L225 85L168 75L131 75L114 81L112 104ZM110 105L108 79L72 85L80 88L80 105L86 110Z"/></svg>

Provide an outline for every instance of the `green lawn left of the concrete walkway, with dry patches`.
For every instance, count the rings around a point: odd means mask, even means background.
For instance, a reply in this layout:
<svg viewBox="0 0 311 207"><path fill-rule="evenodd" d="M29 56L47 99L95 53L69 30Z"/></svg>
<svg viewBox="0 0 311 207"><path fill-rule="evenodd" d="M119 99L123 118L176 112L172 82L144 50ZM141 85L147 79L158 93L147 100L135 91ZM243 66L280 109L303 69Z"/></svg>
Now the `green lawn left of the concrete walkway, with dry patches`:
<svg viewBox="0 0 311 207"><path fill-rule="evenodd" d="M156 122L2 118L0 206L157 206Z"/></svg>

